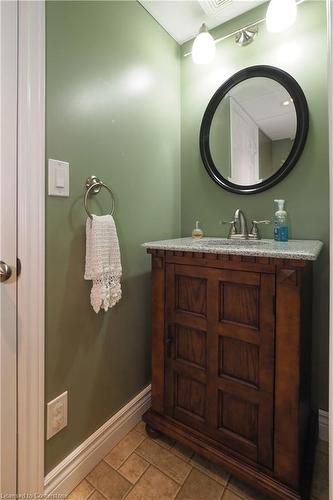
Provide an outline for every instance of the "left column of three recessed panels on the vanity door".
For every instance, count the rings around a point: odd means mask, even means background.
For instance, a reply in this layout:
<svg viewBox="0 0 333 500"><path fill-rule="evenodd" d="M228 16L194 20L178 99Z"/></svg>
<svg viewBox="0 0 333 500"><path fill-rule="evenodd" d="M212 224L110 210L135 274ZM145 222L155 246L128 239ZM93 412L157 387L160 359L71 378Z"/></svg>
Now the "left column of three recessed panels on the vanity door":
<svg viewBox="0 0 333 500"><path fill-rule="evenodd" d="M207 421L209 270L166 269L166 401L169 415L204 431Z"/></svg>

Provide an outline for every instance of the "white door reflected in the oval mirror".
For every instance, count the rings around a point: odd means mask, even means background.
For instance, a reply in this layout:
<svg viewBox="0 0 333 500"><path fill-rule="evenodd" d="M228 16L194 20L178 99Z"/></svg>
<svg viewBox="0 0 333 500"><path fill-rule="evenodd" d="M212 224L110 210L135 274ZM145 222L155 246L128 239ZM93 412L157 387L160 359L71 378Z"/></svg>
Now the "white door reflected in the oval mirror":
<svg viewBox="0 0 333 500"><path fill-rule="evenodd" d="M259 179L259 128L240 104L230 97L231 177L249 186Z"/></svg>

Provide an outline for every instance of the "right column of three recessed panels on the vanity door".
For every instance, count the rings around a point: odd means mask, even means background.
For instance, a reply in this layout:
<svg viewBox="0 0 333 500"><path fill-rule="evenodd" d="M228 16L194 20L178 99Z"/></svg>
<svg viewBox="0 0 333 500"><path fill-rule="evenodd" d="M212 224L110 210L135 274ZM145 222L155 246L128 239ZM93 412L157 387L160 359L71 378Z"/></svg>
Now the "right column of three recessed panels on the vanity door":
<svg viewBox="0 0 333 500"><path fill-rule="evenodd" d="M249 274L250 278L246 272L228 276L222 272L214 277L215 435L235 452L242 450L271 468L275 279L270 274Z"/></svg>

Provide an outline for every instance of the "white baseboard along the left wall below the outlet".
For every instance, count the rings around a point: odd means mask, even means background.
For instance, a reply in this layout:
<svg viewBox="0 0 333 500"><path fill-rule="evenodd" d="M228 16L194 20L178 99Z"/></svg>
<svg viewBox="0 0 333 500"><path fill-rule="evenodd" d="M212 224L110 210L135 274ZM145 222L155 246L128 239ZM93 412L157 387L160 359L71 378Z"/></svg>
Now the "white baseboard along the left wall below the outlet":
<svg viewBox="0 0 333 500"><path fill-rule="evenodd" d="M150 407L150 401L149 385L47 474L45 494L68 495L141 420Z"/></svg>

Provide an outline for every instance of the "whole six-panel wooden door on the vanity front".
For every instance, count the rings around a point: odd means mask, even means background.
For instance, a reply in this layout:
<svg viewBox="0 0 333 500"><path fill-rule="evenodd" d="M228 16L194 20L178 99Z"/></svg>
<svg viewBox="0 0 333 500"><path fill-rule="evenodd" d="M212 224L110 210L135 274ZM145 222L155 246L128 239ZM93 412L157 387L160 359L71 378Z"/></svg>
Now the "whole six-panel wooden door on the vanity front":
<svg viewBox="0 0 333 500"><path fill-rule="evenodd" d="M166 408L272 467L274 276L168 264Z"/></svg>

